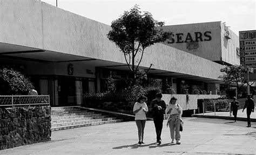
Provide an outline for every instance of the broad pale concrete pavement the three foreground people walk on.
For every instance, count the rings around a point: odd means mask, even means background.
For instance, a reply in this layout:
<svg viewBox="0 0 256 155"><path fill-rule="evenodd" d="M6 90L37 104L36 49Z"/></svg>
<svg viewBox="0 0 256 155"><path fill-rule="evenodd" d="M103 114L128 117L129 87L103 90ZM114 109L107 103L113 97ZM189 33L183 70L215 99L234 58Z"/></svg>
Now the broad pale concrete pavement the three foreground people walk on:
<svg viewBox="0 0 256 155"><path fill-rule="evenodd" d="M2 150L0 154L256 154L256 123L245 127L197 119L206 118L184 118L181 145L170 143L166 120L162 144L157 145L154 124L149 120L142 145L138 145L137 127L131 121L55 131L49 142Z"/></svg>

